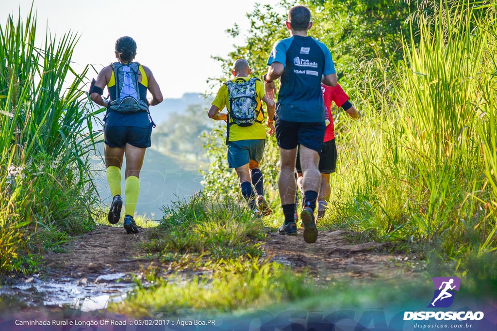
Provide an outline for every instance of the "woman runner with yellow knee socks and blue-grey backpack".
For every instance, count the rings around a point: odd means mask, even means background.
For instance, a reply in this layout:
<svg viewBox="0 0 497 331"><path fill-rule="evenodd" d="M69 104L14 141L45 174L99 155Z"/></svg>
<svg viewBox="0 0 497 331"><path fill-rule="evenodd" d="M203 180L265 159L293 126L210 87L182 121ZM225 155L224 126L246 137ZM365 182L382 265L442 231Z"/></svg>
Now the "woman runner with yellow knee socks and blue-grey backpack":
<svg viewBox="0 0 497 331"><path fill-rule="evenodd" d="M115 224L121 217L121 166L123 156L126 155L124 228L127 233L138 233L133 216L140 193L140 170L145 149L151 145L152 128L155 127L148 108L161 103L163 96L152 71L133 62L136 56L136 42L133 38L119 38L116 41L115 56L118 62L104 67L98 73L89 93L93 102L107 107L103 129L105 165L113 197L108 220ZM105 86L110 101L102 98ZM150 101L147 100L147 90L152 94Z"/></svg>

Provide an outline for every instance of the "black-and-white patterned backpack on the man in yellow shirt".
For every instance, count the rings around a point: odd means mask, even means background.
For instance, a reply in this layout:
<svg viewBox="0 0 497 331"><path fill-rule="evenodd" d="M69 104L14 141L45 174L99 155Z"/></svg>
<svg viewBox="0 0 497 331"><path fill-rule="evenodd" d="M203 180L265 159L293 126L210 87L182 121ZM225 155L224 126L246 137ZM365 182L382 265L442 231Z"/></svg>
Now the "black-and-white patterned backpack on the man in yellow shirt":
<svg viewBox="0 0 497 331"><path fill-rule="evenodd" d="M233 123L240 127L251 126L254 122L261 123L257 121L259 115L255 93L255 81L257 80L259 79L252 77L241 83L234 83L231 80L225 82L228 87L230 117Z"/></svg>

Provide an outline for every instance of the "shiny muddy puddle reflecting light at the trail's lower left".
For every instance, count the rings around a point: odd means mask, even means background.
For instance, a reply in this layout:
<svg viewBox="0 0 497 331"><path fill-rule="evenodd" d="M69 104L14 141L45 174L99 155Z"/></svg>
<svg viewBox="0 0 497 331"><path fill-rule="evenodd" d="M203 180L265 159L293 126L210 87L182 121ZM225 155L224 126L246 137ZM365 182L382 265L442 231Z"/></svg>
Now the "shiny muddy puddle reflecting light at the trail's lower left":
<svg viewBox="0 0 497 331"><path fill-rule="evenodd" d="M143 284L147 285L147 284ZM109 273L93 278L43 279L39 275L0 287L0 302L11 308L68 307L83 312L124 300L135 287L132 274Z"/></svg>

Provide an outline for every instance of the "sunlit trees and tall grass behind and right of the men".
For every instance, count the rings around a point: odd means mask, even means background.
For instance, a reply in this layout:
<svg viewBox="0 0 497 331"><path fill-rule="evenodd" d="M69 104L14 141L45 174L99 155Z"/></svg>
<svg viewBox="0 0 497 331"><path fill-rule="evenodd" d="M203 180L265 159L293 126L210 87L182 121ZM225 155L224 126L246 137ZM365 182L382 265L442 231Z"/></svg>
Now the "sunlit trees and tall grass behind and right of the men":
<svg viewBox="0 0 497 331"><path fill-rule="evenodd" d="M303 4L315 22L310 35L330 47L339 82L363 115L353 122L334 111L338 168L321 228L395 242L450 265L451 274L466 274L475 259L495 258L496 1ZM381 27L370 21L380 18ZM260 76L272 43L288 31L270 6L256 7L248 19L246 42L216 59L228 69L244 57ZM236 195L236 175L218 142L223 129L206 141L213 162L205 189ZM281 222L277 155L270 138L261 165L276 210L273 226ZM486 270L496 276L495 267Z"/></svg>

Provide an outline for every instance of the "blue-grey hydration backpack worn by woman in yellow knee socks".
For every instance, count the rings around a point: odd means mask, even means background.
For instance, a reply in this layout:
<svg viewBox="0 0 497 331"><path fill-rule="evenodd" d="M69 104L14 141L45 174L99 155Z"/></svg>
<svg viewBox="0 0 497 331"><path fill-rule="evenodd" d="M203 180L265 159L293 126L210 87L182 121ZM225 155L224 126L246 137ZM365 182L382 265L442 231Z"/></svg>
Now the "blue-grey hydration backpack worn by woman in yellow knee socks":
<svg viewBox="0 0 497 331"><path fill-rule="evenodd" d="M132 62L112 64L116 79L116 95L109 103L110 110L120 113L148 112L147 100L140 100L138 89L138 70L140 64Z"/></svg>

